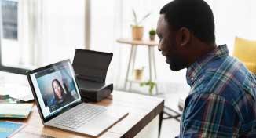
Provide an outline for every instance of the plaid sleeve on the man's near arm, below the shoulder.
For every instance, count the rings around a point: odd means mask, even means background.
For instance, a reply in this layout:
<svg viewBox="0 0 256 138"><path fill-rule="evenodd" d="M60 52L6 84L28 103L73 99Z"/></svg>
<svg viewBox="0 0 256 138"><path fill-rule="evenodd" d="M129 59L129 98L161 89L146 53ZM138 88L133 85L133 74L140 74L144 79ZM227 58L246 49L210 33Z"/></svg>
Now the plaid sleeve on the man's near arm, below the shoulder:
<svg viewBox="0 0 256 138"><path fill-rule="evenodd" d="M188 96L181 137L237 137L240 123L234 107L214 94Z"/></svg>

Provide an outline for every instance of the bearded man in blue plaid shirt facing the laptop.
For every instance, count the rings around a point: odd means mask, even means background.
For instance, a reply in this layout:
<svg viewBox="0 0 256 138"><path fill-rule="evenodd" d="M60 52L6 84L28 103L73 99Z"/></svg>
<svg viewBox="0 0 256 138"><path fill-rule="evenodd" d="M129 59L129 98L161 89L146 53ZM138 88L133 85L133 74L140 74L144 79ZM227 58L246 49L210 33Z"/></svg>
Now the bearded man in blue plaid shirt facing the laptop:
<svg viewBox="0 0 256 138"><path fill-rule="evenodd" d="M191 86L180 137L256 137L254 74L215 44L214 16L203 0L174 0L160 11L159 51ZM245 45L246 46L246 45Z"/></svg>

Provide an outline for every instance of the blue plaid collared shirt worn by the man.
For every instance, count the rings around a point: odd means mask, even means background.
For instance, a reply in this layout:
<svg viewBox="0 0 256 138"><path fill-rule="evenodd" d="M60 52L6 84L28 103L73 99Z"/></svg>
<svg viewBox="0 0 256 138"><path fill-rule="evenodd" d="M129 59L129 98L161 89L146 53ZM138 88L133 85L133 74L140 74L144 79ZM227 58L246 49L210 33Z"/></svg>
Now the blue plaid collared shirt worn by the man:
<svg viewBox="0 0 256 138"><path fill-rule="evenodd" d="M256 79L226 45L187 70L180 137L256 137Z"/></svg>

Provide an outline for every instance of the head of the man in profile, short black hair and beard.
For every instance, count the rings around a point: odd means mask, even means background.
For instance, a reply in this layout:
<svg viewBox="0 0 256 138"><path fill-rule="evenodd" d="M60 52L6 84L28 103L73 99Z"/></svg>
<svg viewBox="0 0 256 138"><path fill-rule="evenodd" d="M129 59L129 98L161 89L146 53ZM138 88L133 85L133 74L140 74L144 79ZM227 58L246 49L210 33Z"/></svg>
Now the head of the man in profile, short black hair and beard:
<svg viewBox="0 0 256 138"><path fill-rule="evenodd" d="M207 52L210 45L215 45L214 16L210 6L203 0L174 0L164 5L157 34L159 50L166 56L170 69L178 71L188 67Z"/></svg>

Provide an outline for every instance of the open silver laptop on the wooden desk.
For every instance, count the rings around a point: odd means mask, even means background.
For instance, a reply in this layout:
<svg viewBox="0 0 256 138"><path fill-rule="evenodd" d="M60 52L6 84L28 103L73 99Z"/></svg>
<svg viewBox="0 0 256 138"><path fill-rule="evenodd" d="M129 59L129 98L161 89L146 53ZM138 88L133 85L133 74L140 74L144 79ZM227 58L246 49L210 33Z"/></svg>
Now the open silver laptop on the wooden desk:
<svg viewBox="0 0 256 138"><path fill-rule="evenodd" d="M100 136L126 111L82 102L70 60L27 72L43 125L88 136Z"/></svg>

